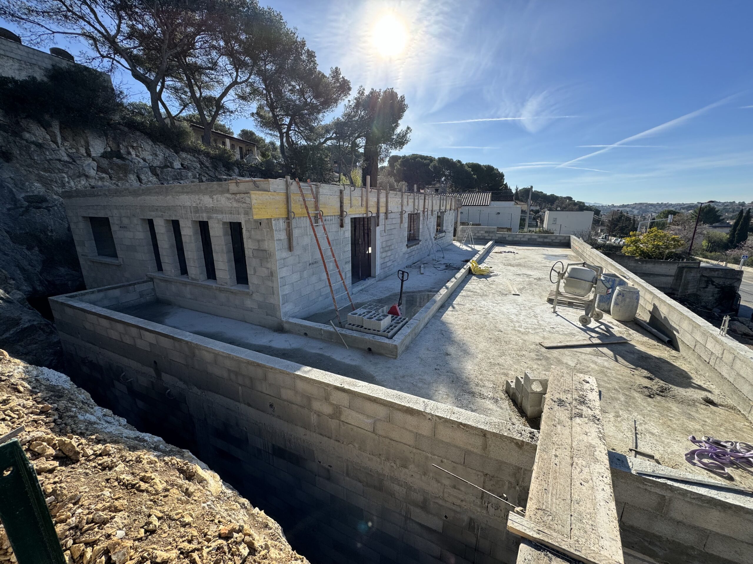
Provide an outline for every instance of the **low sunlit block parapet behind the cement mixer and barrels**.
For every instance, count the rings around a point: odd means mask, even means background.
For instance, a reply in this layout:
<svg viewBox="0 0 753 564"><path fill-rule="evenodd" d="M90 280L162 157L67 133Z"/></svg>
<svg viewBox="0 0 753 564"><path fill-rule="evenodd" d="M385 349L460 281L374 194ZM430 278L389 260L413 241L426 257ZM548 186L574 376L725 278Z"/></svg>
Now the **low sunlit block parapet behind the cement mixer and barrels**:
<svg viewBox="0 0 753 564"><path fill-rule="evenodd" d="M572 250L586 262L619 274L640 291L638 317L672 337L675 348L713 378L745 417L753 421L753 350L675 302L660 290L609 259L580 238L571 239Z"/></svg>

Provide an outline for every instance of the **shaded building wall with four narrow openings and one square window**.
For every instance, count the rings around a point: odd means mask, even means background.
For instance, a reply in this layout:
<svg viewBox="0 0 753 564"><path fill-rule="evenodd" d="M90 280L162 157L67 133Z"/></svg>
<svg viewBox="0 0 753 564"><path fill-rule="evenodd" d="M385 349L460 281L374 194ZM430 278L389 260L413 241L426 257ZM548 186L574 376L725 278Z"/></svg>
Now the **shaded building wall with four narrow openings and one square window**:
<svg viewBox="0 0 753 564"><path fill-rule="evenodd" d="M271 220L251 219L248 193L230 193L227 182L215 182L72 190L64 198L87 287L154 274L158 297L166 302L281 327ZM96 255L89 217L109 218L117 259ZM154 221L162 272L157 272L148 219ZM187 275L178 266L172 220L180 222ZM199 221L209 222L216 281L206 277ZM229 222L243 226L248 286L236 284Z"/></svg>

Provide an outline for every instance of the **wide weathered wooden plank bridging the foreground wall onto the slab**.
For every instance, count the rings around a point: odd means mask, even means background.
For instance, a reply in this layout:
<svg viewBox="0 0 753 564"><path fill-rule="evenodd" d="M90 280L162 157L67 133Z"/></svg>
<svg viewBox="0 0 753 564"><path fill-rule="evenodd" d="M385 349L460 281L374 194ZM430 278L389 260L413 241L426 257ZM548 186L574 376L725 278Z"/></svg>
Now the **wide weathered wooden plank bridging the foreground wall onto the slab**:
<svg viewBox="0 0 753 564"><path fill-rule="evenodd" d="M560 553L623 562L595 379L552 368L527 505L526 520L539 531L533 541L547 536ZM513 515L508 528L517 526ZM517 562L568 561L523 541Z"/></svg>

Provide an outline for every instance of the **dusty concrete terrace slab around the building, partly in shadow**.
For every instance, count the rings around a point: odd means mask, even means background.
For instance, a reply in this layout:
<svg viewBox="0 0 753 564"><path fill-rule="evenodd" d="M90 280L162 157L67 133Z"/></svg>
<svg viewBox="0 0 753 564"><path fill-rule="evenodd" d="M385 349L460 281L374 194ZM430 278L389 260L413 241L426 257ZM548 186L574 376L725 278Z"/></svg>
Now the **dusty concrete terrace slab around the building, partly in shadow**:
<svg viewBox="0 0 753 564"><path fill-rule="evenodd" d="M499 275L466 278L396 360L170 305L140 305L126 313L519 424L526 421L505 395L505 381L522 378L525 370L546 375L553 365L567 368L597 379L611 450L630 454L636 419L640 450L706 477L684 460L693 447L688 435L751 441L753 426L714 382L634 323L606 314L602 323L584 328L581 310L560 307L553 314L546 296L556 260L579 262L562 247L496 245L486 264ZM385 281L399 288L394 278ZM389 288L381 283L369 287L364 302L386 295ZM556 350L538 344L611 335L630 342ZM753 486L753 477L732 472L737 483Z"/></svg>

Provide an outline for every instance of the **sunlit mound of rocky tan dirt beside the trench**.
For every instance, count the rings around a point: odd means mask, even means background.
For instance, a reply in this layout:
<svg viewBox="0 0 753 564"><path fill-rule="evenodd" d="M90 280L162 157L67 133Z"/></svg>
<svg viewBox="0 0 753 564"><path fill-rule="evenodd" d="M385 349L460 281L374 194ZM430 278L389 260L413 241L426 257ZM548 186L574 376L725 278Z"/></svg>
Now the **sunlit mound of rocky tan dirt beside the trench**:
<svg viewBox="0 0 753 564"><path fill-rule="evenodd" d="M191 453L99 408L64 374L0 350L0 435L22 425L66 564L306 562Z"/></svg>

